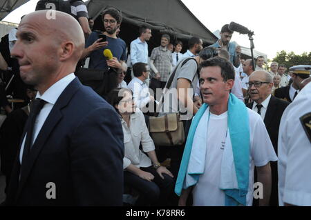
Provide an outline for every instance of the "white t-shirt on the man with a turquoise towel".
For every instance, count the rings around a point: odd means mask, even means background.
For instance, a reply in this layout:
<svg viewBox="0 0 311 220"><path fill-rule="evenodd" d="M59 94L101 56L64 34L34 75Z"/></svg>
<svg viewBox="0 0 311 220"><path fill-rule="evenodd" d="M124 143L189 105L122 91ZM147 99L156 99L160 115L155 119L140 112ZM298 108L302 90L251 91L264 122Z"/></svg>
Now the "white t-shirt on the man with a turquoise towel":
<svg viewBox="0 0 311 220"><path fill-rule="evenodd" d="M254 166L265 166L277 157L270 141L263 119L253 110L249 114L250 155L249 188L247 206L252 206L254 192ZM207 151L205 171L194 186L194 206L225 206L225 192L219 189L220 167L223 159L223 146L227 133L227 112L209 117L207 128Z"/></svg>

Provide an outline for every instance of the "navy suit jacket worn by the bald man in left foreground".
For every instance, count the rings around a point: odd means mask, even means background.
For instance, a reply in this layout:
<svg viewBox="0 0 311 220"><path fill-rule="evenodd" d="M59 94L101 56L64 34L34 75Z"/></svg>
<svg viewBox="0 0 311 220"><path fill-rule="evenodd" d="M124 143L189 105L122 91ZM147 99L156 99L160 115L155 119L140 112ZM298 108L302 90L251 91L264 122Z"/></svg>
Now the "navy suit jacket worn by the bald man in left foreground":
<svg viewBox="0 0 311 220"><path fill-rule="evenodd" d="M21 166L15 161L6 205L122 206L123 157L117 112L76 78L57 99L29 157ZM50 182L56 199L46 197Z"/></svg>

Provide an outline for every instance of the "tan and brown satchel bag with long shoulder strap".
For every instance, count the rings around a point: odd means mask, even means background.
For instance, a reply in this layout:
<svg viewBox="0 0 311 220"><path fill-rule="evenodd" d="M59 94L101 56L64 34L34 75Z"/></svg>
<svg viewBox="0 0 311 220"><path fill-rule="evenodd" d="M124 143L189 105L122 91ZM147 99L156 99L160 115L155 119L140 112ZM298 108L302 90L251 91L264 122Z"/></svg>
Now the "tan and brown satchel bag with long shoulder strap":
<svg viewBox="0 0 311 220"><path fill-rule="evenodd" d="M187 61L194 58L185 59L182 62L183 66ZM175 77L178 66L173 70L165 88L171 86L173 78ZM164 102L164 95L162 94L160 103ZM159 105L160 109L162 105ZM157 111L158 112L158 111ZM169 113L161 117L149 117L149 133L156 146L180 146L185 143L185 130L179 113Z"/></svg>

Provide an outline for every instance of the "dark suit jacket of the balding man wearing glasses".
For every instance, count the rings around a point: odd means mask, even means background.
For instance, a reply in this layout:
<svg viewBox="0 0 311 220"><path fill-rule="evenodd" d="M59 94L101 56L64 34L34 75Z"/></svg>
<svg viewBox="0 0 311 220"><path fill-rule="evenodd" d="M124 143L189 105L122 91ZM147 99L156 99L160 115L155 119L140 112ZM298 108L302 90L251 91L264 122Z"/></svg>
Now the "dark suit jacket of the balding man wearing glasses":
<svg viewBox="0 0 311 220"><path fill-rule="evenodd" d="M252 109L253 103L247 103L247 107ZM274 150L277 154L278 150L278 137L279 137L279 127L281 122L282 114L285 108L289 105L287 101L283 101L281 99L276 99L271 96L269 104L267 106L267 112L265 112L265 119L263 122L265 123L265 128L267 128L267 132L271 139Z"/></svg>

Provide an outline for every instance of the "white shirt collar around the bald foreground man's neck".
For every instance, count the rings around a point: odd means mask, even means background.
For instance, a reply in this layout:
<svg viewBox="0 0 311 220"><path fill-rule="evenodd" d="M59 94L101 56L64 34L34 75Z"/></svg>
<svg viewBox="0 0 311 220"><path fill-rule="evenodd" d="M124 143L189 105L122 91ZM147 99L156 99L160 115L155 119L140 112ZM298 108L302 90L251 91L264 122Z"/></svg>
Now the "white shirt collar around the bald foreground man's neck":
<svg viewBox="0 0 311 220"><path fill-rule="evenodd" d="M39 94L39 92L37 92L36 99L43 99L44 101L55 105L58 97L62 94L69 83L73 81L73 79L75 79L75 74L68 74L66 77L59 79L59 81L50 86L44 94Z"/></svg>

